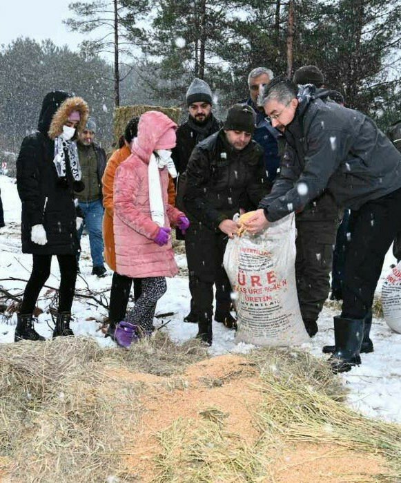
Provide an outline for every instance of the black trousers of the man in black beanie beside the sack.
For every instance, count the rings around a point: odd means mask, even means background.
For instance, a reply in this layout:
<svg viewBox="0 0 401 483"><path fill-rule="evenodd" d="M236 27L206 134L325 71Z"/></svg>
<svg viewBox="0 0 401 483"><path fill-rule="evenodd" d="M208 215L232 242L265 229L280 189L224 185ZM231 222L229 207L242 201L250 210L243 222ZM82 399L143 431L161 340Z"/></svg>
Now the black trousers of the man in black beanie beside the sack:
<svg viewBox="0 0 401 483"><path fill-rule="evenodd" d="M228 312L231 285L223 267L228 238L222 233L193 223L186 231L185 247L188 261L191 308L200 323L208 323L213 315L213 285L216 285L217 310Z"/></svg>

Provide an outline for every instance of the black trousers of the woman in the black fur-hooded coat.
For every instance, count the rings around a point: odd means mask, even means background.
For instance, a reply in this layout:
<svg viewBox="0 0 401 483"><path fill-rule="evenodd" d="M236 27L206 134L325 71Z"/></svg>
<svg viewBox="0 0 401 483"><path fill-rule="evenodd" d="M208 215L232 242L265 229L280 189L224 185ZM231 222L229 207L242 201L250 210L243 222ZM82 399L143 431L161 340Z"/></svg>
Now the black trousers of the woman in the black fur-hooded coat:
<svg viewBox="0 0 401 483"><path fill-rule="evenodd" d="M32 273L25 287L20 314L32 314L39 293L50 276L52 255L32 255ZM74 299L75 281L77 280L77 263L75 254L57 255L60 267L59 312L71 312Z"/></svg>

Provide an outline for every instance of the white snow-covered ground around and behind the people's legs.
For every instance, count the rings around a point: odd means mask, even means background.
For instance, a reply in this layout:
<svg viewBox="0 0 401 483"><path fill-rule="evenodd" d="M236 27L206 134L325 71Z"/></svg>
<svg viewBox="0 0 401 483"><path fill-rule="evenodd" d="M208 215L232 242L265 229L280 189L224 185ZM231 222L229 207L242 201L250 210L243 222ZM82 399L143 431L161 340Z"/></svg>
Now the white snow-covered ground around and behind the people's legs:
<svg viewBox="0 0 401 483"><path fill-rule="evenodd" d="M21 254L19 223L21 216L21 203L17 194L17 187L14 180L6 176L0 176L1 198L5 211L6 227L0 229L0 279L15 277L27 279L30 274L31 256ZM77 281L77 288L88 286L92 290L109 289L111 284L111 272L106 278L97 278L90 274L92 264L89 256L88 236L82 241L83 256L81 258L81 274ZM395 260L389 253L384 263L383 276L389 272L389 266ZM185 266L185 256L177 255L177 263ZM58 287L59 270L57 261L52 264L52 274L47 282L51 287ZM23 290L25 282L1 281L0 285L6 290ZM46 311L48 299L46 290L41 292L39 307ZM18 290L17 290L18 292ZM106 294L108 296L108 294ZM188 280L186 277L168 279L168 291L157 305L157 313L175 312L166 320L157 319L155 325L171 319L166 330L173 340L185 341L195 337L197 326L183 323L184 315L189 309ZM72 330L77 335L89 335L95 337L101 346L114 346L110 339L105 339L98 330L99 323L107 316L106 310L92 303L74 301L72 313L75 322L72 323ZM333 312L326 307L319 320L320 332L310 343L304 344L306 350L310 350L317 357L322 355L322 345L333 341ZM14 323L16 316L12 318ZM50 337L52 332L52 319L50 314L43 313L39 316L37 331ZM224 354L226 352L246 352L253 348L252 345L239 343L234 340L234 332L224 328L221 324L214 323L213 346L210 349L212 355ZM339 375L349 387L349 404L362 413L372 417L380 417L388 421L401 423L401 334L391 332L382 319L373 319L371 337L375 344L375 352L362 354L362 365L353 368L351 372ZM14 340L14 325L7 323L6 319L0 316L0 343L11 343ZM0 345L1 350L1 345Z"/></svg>

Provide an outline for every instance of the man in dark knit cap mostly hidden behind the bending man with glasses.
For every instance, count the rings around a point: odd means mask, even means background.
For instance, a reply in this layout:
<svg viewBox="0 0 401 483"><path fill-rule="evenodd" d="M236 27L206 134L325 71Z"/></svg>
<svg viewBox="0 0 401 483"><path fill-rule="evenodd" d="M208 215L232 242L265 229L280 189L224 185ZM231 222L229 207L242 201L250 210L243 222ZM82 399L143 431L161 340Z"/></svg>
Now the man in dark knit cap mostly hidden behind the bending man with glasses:
<svg viewBox="0 0 401 483"><path fill-rule="evenodd" d="M316 66L302 66L295 71L293 82L322 88L324 76ZM322 97L331 98L331 93L335 91L320 89L319 92ZM329 191L321 193L295 215L297 294L302 320L310 337L317 332L317 318L329 295L338 217L338 206Z"/></svg>

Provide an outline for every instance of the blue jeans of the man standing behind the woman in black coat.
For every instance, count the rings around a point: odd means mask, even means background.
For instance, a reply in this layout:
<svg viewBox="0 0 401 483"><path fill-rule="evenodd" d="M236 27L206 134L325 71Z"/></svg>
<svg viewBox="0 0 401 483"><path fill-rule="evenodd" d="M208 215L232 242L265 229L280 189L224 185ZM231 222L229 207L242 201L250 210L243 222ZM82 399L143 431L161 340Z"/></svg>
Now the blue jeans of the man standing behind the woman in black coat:
<svg viewBox="0 0 401 483"><path fill-rule="evenodd" d="M86 231L89 234L90 244L90 256L92 257L92 263L94 267L99 267L104 264L103 258L103 233L101 231L101 225L103 223L104 209L101 200L95 201L80 201L79 207L84 211L84 223L78 231L78 238L81 240L82 231L86 227ZM79 260L79 254L77 256Z"/></svg>

